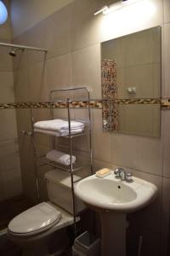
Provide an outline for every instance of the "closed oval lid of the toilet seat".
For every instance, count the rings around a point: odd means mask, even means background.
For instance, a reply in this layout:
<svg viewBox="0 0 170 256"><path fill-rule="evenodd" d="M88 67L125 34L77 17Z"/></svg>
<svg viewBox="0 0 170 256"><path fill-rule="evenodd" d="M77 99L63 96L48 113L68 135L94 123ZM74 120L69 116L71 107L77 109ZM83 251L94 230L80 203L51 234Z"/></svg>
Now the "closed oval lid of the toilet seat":
<svg viewBox="0 0 170 256"><path fill-rule="evenodd" d="M8 224L8 230L15 234L32 235L48 230L60 218L61 213L56 208L42 202L13 218Z"/></svg>

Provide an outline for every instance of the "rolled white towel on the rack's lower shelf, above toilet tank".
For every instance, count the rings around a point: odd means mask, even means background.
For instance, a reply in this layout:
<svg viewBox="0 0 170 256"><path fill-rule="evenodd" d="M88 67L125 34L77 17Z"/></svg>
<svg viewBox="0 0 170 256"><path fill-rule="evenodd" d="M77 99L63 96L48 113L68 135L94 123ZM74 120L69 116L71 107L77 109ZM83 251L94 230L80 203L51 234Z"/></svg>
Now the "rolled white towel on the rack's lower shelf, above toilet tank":
<svg viewBox="0 0 170 256"><path fill-rule="evenodd" d="M65 165L65 166L71 165L71 159L72 159L72 163L75 163L75 161L76 161L76 156L72 155L72 158L71 158L70 154L65 154L58 150L49 151L46 154L46 158L48 160L52 160L54 162L57 162L59 164Z"/></svg>

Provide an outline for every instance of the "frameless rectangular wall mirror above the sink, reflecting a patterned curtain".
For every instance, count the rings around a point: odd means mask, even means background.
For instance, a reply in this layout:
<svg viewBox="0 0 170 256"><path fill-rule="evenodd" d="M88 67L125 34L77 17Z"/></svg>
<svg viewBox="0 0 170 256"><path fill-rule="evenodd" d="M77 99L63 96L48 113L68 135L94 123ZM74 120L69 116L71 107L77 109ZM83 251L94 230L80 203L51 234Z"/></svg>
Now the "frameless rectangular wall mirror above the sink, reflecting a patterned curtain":
<svg viewBox="0 0 170 256"><path fill-rule="evenodd" d="M103 130L160 137L161 26L101 43Z"/></svg>

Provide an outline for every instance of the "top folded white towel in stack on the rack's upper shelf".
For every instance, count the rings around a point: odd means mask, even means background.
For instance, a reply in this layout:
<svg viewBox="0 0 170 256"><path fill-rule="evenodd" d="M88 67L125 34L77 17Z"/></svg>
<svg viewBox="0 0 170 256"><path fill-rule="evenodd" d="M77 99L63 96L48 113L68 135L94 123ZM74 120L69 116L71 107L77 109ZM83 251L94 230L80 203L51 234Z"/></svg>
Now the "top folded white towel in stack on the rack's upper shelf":
<svg viewBox="0 0 170 256"><path fill-rule="evenodd" d="M68 120L53 119L47 121L39 121L34 124L34 127L39 130L46 131L68 131L69 123ZM84 124L77 121L71 121L71 130L84 129Z"/></svg>

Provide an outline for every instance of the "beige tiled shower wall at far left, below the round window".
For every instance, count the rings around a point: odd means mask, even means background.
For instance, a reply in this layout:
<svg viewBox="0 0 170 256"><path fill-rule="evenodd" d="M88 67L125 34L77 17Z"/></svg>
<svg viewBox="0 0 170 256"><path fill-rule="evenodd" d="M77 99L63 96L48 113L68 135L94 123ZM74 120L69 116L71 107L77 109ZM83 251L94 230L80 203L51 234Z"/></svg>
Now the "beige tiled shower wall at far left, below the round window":
<svg viewBox="0 0 170 256"><path fill-rule="evenodd" d="M8 6L8 1L5 1ZM10 20L0 26L0 42L10 42ZM0 102L14 102L12 59L0 47ZM0 201L21 193L20 161L14 109L0 111Z"/></svg>

